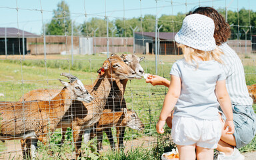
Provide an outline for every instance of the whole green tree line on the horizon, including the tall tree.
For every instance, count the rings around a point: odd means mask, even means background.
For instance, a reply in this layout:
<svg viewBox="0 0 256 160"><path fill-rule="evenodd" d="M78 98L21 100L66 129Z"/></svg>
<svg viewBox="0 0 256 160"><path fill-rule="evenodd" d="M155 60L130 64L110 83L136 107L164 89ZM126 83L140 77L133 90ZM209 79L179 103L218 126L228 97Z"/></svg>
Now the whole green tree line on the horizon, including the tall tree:
<svg viewBox="0 0 256 160"><path fill-rule="evenodd" d="M223 17L225 17L225 9L217 9ZM161 15L158 17L157 25L161 27L160 32L177 32L181 29L182 21L186 15L184 13L177 13L177 15ZM83 35L93 37L93 30L96 37L107 37L107 23L109 25L109 37L133 37L133 31L155 32L155 15L144 15L144 17L133 17L132 19L101 19L99 17L92 17L89 21L82 24L73 24L73 35ZM256 33L256 12L240 9L237 11L227 11L227 21L231 25L231 39L245 39L245 32L247 39ZM57 4L57 9L53 10L53 18L45 26L45 33L47 35L71 35L72 19L70 17L69 6L65 1Z"/></svg>

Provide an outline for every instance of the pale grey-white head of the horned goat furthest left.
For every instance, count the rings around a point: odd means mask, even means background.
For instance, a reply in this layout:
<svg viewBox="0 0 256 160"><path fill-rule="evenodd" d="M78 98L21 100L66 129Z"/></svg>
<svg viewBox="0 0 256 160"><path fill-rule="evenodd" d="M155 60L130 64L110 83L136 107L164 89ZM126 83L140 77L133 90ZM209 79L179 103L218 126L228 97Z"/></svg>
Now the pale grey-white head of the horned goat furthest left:
<svg viewBox="0 0 256 160"><path fill-rule="evenodd" d="M71 98L77 101L91 102L93 97L88 93L88 91L83 86L83 83L75 76L69 73L61 73L62 76L69 78L69 82L61 81L61 83L69 89L71 92Z"/></svg>

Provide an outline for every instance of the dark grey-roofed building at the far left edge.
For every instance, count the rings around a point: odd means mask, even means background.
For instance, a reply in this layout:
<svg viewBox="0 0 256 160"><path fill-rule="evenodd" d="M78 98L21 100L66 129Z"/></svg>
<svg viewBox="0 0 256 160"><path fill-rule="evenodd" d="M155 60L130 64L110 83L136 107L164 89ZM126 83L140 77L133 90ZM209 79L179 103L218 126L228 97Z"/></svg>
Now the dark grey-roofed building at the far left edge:
<svg viewBox="0 0 256 160"><path fill-rule="evenodd" d="M23 51L27 54L27 37L40 37L40 35L14 27L0 27L0 55L23 55Z"/></svg>

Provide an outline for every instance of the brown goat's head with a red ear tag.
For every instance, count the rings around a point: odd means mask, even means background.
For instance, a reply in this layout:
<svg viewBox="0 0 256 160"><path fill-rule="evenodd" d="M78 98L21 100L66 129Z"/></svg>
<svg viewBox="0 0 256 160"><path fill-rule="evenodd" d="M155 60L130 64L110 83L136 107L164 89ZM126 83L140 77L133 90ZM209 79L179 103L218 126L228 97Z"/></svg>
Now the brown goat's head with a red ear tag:
<svg viewBox="0 0 256 160"><path fill-rule="evenodd" d="M135 72L127 66L119 55L111 55L104 61L102 67L97 71L100 75L106 74L113 81L115 79L134 79Z"/></svg>

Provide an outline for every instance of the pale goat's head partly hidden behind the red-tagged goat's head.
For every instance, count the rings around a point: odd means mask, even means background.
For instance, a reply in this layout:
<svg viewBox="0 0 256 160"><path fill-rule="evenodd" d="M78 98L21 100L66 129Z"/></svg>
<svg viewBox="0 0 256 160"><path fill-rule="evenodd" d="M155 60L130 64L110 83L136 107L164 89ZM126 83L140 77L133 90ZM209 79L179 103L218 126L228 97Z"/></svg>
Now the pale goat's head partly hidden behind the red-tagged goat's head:
<svg viewBox="0 0 256 160"><path fill-rule="evenodd" d="M135 71L135 78L141 79L144 75L144 69L141 67L141 64L139 64L145 57L137 57L135 54L123 54L121 55L121 58L123 61Z"/></svg>

